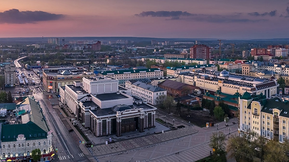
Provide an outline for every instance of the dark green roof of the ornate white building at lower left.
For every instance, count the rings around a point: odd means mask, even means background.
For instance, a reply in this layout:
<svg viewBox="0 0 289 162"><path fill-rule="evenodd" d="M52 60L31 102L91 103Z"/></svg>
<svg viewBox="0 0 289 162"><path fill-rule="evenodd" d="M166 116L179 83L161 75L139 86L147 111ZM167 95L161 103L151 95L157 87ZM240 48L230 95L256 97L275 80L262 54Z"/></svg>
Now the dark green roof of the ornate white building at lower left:
<svg viewBox="0 0 289 162"><path fill-rule="evenodd" d="M1 142L16 141L19 134L23 134L26 140L38 140L47 138L47 132L29 121L25 124L2 125Z"/></svg>

